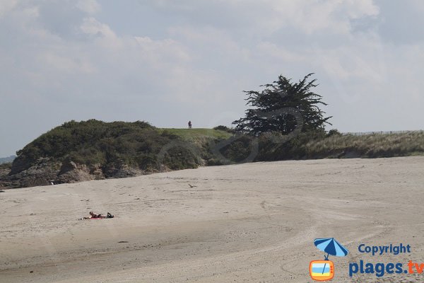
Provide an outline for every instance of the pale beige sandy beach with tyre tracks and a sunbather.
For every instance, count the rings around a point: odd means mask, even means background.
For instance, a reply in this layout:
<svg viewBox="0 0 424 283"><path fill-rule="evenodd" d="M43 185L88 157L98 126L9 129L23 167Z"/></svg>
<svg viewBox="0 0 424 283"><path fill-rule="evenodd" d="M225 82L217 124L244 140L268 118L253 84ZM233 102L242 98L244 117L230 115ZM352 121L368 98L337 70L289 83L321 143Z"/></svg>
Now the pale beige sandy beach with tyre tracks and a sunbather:
<svg viewBox="0 0 424 283"><path fill-rule="evenodd" d="M348 262L424 262L424 157L247 163L0 193L0 282L312 282L314 238ZM193 187L191 187L191 184ZM114 219L77 219L88 212ZM411 245L367 256L358 245Z"/></svg>

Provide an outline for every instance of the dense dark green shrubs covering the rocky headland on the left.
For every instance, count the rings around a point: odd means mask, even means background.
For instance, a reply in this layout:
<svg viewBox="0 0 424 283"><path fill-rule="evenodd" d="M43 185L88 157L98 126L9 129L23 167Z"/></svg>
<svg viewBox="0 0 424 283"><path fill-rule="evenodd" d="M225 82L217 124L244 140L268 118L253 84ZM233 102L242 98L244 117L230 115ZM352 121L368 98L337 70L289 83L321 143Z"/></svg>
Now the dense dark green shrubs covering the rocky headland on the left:
<svg viewBox="0 0 424 283"><path fill-rule="evenodd" d="M13 173L33 166L40 158L69 160L79 164L107 166L122 163L142 170L158 167L161 149L181 138L162 132L147 122L66 122L42 134L17 152ZM184 156L184 158L182 158ZM181 146L164 153L163 164L170 169L194 168L199 156Z"/></svg>

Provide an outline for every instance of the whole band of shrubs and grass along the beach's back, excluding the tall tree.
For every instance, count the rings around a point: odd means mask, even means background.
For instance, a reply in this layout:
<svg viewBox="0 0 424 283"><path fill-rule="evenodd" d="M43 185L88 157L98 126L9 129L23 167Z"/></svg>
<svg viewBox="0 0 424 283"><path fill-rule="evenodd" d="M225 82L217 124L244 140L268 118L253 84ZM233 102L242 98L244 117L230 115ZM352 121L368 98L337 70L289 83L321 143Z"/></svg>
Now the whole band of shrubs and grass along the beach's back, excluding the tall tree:
<svg viewBox="0 0 424 283"><path fill-rule="evenodd" d="M139 121L71 121L18 151L11 170L24 171L40 158L52 163L66 160L95 168L129 166L153 172L163 166L178 170L246 161L424 154L424 132L354 136L333 130L301 132L288 140L284 137L276 132L258 137L236 134L224 126L160 129Z"/></svg>

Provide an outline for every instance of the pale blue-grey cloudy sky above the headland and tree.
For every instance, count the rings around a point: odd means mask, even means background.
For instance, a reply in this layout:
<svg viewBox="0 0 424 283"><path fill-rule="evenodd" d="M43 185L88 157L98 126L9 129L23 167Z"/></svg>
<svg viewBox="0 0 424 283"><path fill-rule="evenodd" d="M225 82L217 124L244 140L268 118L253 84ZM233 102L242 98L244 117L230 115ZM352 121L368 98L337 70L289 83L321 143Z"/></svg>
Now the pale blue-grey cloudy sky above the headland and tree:
<svg viewBox="0 0 424 283"><path fill-rule="evenodd" d="M424 129L421 0L0 0L0 156L69 120L230 126L315 73L341 132Z"/></svg>

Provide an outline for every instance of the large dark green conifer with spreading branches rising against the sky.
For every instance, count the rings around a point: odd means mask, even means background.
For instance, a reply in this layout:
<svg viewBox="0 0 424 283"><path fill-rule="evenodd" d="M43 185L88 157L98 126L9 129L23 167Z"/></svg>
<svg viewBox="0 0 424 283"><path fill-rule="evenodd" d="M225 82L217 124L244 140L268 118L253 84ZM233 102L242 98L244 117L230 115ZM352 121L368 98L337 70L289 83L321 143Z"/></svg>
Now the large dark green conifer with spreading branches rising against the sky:
<svg viewBox="0 0 424 283"><path fill-rule="evenodd" d="M313 74L313 73L312 73ZM278 76L278 81L263 85L264 90L245 91L246 105L252 106L245 111L245 117L232 122L240 132L258 135L264 132L293 131L311 132L324 130L329 124L325 112L319 109L322 96L314 93L316 79L310 80L308 74L298 83L293 83L285 76Z"/></svg>

